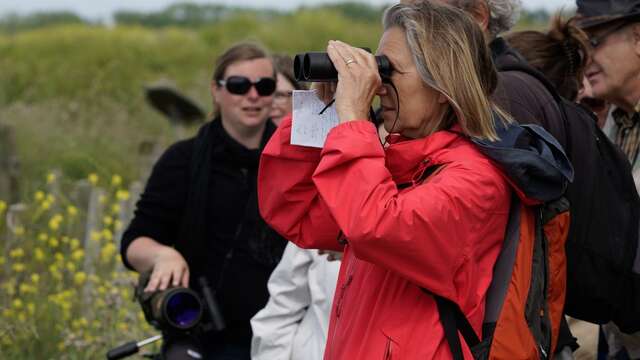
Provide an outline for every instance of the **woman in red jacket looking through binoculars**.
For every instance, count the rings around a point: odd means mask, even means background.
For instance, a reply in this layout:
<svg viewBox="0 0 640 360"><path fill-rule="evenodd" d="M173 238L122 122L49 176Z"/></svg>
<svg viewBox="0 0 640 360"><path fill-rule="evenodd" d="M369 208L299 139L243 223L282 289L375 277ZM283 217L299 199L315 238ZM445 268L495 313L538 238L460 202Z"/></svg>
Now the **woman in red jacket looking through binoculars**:
<svg viewBox="0 0 640 360"><path fill-rule="evenodd" d="M329 42L338 82L318 90L335 96L341 124L318 150L291 145L284 120L262 155L260 210L301 247L345 251L325 359L447 359L421 288L457 303L481 333L511 190L467 137L497 138L496 72L478 25L452 7L396 5L384 29L389 79L374 56ZM376 95L384 147L365 120Z"/></svg>

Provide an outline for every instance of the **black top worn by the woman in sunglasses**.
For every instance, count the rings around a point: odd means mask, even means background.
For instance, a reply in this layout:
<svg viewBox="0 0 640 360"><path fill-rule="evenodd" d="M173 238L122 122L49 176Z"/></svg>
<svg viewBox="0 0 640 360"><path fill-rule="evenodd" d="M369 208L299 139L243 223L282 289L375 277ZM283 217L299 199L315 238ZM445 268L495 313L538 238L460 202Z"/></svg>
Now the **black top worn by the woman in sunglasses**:
<svg viewBox="0 0 640 360"><path fill-rule="evenodd" d="M237 143L226 133L220 120L206 126L210 126L205 139L211 145L207 153L209 163L205 164L194 155L202 130L199 137L172 145L153 168L136 205L134 218L123 235L120 250L125 265L131 268L125 254L134 239L147 236L175 246L189 264L191 287L198 290L197 278L204 275L217 290L227 325L221 341L249 346L249 320L269 298L267 281L286 244L283 238L263 224L257 213L259 156L275 126L268 122L260 150L249 150ZM196 166L209 169L208 186L202 191L204 210L201 211L203 221L199 226L202 226L200 236L204 241L196 247L198 256L185 251L185 245L189 245L187 242L194 240L183 238L188 237L185 234L193 233L184 231L185 224L194 226L193 221L189 221L192 219L186 219L193 216L193 211L188 211L187 207L192 206L188 197L190 189L195 186L191 178L194 158L196 162L202 162ZM261 226L265 229L256 229ZM262 240L275 244L275 256L271 260L263 251L256 250L247 236L257 232L254 230L263 230Z"/></svg>

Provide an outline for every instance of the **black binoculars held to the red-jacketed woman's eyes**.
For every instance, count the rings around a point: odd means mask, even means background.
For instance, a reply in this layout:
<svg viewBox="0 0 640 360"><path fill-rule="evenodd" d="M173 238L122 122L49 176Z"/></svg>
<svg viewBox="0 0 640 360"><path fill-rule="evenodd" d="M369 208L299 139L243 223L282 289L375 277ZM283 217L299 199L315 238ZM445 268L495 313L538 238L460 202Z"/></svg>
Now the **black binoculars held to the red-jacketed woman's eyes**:
<svg viewBox="0 0 640 360"><path fill-rule="evenodd" d="M378 73L384 81L391 76L391 63L384 55L376 56ZM298 54L293 60L296 81L330 82L338 80L338 71L326 52Z"/></svg>

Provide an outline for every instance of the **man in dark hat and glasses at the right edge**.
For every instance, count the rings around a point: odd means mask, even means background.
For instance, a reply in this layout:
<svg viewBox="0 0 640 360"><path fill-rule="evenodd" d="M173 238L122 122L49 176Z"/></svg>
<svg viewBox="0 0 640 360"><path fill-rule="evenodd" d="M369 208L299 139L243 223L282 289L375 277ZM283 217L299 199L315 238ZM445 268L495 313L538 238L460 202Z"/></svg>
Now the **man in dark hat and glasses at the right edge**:
<svg viewBox="0 0 640 360"><path fill-rule="evenodd" d="M603 131L627 155L640 191L640 1L577 1L578 26L589 36L586 76L595 98L614 108ZM602 326L610 359L640 358L640 333Z"/></svg>

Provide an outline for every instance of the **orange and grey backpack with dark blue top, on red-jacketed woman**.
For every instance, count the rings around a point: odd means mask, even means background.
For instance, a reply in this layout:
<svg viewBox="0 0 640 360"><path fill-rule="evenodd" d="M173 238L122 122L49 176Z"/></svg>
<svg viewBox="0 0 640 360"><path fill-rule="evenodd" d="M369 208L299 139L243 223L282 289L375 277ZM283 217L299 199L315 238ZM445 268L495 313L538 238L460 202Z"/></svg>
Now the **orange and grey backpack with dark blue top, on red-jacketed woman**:
<svg viewBox="0 0 640 360"><path fill-rule="evenodd" d="M512 196L504 243L486 296L481 338L457 304L430 293L454 360L463 359L458 333L474 359L550 358L563 317L570 217L569 202L562 195L573 169L562 147L542 128L508 125L499 130L497 142L471 141L500 166L518 195L538 203L525 203L515 192Z"/></svg>

